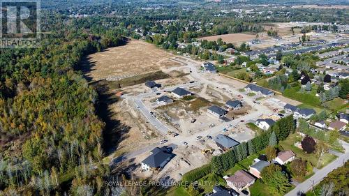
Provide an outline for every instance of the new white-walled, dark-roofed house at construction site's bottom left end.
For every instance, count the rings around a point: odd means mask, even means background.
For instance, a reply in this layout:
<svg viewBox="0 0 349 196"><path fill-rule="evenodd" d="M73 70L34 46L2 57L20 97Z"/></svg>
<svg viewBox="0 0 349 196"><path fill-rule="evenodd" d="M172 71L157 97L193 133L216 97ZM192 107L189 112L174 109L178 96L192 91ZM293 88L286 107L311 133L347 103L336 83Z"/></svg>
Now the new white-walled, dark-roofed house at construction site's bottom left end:
<svg viewBox="0 0 349 196"><path fill-rule="evenodd" d="M174 154L167 147L156 147L151 151L150 156L142 161L141 167L147 171L150 169L160 169L165 167L172 157L174 157Z"/></svg>

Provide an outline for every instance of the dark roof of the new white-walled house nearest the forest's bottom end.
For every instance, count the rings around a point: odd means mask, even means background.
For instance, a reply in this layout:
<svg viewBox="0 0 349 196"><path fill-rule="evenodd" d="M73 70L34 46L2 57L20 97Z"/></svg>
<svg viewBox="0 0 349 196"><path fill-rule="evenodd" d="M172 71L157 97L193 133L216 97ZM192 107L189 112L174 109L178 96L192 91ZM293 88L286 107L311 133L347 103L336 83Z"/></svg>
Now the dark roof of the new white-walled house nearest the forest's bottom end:
<svg viewBox="0 0 349 196"><path fill-rule="evenodd" d="M142 163L149 165L150 167L160 167L168 158L173 156L172 153L168 153L165 147L156 147L151 151L151 155L142 161Z"/></svg>

